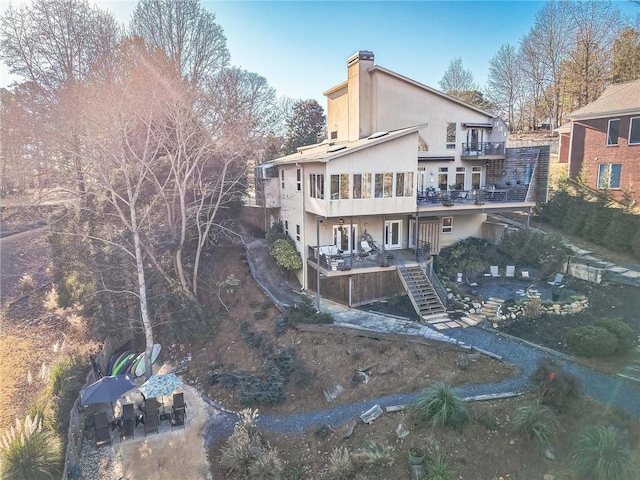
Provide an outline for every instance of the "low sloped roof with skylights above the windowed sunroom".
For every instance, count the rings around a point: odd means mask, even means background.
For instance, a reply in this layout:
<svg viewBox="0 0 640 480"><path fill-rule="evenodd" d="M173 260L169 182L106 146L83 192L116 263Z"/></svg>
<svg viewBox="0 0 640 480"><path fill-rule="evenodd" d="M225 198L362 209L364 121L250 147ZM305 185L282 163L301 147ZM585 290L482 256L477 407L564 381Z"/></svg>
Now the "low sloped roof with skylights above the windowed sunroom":
<svg viewBox="0 0 640 480"><path fill-rule="evenodd" d="M327 142L326 140L317 145L309 145L298 148L296 153L292 153L285 157L277 158L269 162L269 166L286 165L291 163L311 163L311 162L329 162L334 158L349 155L353 152L370 148L381 143L396 140L405 135L416 133L425 125L415 125L400 130L391 130L389 132L377 132L367 138L360 138L353 142ZM416 146L417 150L417 146Z"/></svg>

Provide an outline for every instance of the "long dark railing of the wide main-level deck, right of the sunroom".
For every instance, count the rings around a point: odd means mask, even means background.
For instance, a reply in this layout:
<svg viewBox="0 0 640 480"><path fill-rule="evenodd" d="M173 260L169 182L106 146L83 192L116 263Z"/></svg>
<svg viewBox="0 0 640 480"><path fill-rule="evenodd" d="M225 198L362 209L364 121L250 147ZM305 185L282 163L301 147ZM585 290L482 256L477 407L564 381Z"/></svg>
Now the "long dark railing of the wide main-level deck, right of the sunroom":
<svg viewBox="0 0 640 480"><path fill-rule="evenodd" d="M483 188L479 190L448 190L446 192L418 192L418 205L482 205L483 203L524 202L528 186Z"/></svg>

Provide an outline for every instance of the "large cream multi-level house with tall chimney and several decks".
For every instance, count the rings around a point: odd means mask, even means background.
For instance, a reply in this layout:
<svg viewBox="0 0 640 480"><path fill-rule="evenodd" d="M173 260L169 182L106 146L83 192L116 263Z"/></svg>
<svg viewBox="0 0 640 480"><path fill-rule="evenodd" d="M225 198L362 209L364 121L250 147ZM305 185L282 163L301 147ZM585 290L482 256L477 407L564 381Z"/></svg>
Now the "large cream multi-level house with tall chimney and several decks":
<svg viewBox="0 0 640 480"><path fill-rule="evenodd" d="M256 171L265 218L302 254L305 289L321 282L323 296L357 305L426 284L442 309L433 256L469 236L499 238L505 226L488 214L546 199L548 147L507 149L502 119L376 65L370 51L324 95L326 140Z"/></svg>

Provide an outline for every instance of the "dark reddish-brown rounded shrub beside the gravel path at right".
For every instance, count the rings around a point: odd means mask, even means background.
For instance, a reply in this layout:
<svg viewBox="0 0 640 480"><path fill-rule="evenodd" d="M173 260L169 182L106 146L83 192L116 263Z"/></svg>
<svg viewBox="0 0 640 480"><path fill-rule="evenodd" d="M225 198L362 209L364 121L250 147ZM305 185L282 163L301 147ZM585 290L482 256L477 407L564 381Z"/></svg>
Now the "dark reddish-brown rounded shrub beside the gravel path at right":
<svg viewBox="0 0 640 480"><path fill-rule="evenodd" d="M542 358L531 375L534 391L545 405L563 411L581 393L580 381L553 360Z"/></svg>

